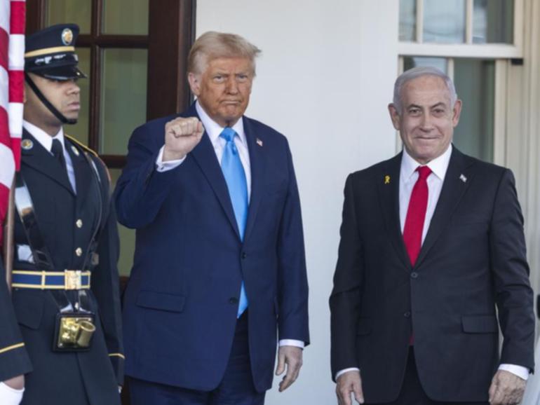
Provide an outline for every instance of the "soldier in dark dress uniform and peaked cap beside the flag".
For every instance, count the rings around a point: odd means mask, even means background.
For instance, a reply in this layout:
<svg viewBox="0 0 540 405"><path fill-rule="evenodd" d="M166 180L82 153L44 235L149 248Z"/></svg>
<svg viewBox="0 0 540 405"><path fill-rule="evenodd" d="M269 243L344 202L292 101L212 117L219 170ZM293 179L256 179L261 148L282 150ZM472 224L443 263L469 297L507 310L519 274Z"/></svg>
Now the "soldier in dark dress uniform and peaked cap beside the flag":
<svg viewBox="0 0 540 405"><path fill-rule="evenodd" d="M13 350L0 350L0 378L26 373L22 405L120 404L119 238L109 175L63 129L76 123L76 81L86 77L77 67L77 34L76 25L55 25L26 39L11 284L19 331L5 343Z"/></svg>

